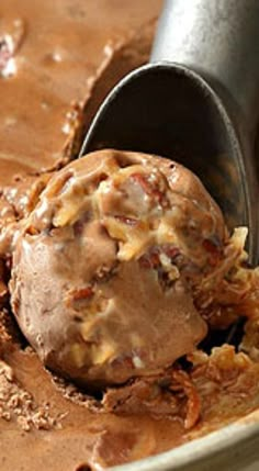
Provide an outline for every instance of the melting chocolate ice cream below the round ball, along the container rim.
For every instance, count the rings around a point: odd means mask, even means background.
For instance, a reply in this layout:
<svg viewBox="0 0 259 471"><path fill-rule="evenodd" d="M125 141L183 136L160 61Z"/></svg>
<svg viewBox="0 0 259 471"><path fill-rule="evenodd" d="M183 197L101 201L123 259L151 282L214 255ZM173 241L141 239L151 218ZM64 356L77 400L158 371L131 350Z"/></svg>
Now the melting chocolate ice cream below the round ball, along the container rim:
<svg viewBox="0 0 259 471"><path fill-rule="evenodd" d="M1 333L1 343L3 338ZM179 416L173 418L173 403L172 415L154 416L145 410L126 415L99 411L92 400L72 384L57 386L36 355L19 348L12 336L4 344L2 357L5 368L3 365L0 371L0 397L5 394L10 414L10 418L2 414L0 399L0 463L4 471L37 471L43 466L48 471L85 471L88 466L99 471L169 450L259 406L258 365L241 354L235 356L230 347L215 351L210 360L203 354L193 359L192 381L202 402L202 415L199 426L192 430L184 429ZM11 380L5 379L5 372L11 374ZM19 420L26 397L16 405L10 389L19 391L20 397L22 391L33 397L34 414L29 407L24 419ZM126 392L121 403L130 400ZM148 392L139 392L142 402L145 395L148 399ZM150 401L156 407L154 391ZM27 424L30 431L26 431Z"/></svg>

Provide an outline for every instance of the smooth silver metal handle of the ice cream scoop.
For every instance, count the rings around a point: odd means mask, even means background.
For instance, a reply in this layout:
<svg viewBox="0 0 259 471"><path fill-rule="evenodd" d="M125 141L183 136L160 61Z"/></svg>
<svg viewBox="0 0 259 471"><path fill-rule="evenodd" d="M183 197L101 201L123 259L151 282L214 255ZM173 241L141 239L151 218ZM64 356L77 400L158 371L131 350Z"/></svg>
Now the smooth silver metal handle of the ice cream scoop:
<svg viewBox="0 0 259 471"><path fill-rule="evenodd" d="M150 58L164 60L199 72L235 119L256 130L259 0L166 0Z"/></svg>

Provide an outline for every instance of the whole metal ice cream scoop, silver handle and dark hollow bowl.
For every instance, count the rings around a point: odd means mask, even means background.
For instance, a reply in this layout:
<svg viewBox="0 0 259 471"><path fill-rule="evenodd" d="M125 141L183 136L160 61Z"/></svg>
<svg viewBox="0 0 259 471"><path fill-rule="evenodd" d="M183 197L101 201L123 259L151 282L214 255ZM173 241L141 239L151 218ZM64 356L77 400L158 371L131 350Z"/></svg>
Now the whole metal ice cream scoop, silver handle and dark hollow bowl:
<svg viewBox="0 0 259 471"><path fill-rule="evenodd" d="M173 158L200 176L228 226L259 257L254 156L259 114L259 1L167 0L150 63L101 105L80 155L114 147Z"/></svg>

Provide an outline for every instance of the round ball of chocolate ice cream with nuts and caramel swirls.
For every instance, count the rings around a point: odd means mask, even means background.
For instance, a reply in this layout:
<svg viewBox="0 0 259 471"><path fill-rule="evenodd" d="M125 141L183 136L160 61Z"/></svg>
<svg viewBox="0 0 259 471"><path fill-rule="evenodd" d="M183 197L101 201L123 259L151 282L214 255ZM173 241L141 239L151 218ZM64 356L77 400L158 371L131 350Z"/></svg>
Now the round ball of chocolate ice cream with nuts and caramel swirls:
<svg viewBox="0 0 259 471"><path fill-rule="evenodd" d="M25 220L10 282L43 362L89 386L154 374L206 335L192 289L226 229L192 172L101 150L57 172Z"/></svg>

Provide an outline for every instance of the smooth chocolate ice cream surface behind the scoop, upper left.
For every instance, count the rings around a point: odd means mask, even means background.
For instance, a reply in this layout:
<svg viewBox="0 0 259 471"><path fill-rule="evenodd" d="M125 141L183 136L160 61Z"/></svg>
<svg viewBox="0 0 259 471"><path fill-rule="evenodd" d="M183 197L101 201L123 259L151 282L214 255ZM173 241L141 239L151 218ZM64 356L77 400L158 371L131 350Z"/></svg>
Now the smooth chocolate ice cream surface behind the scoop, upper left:
<svg viewBox="0 0 259 471"><path fill-rule="evenodd" d="M78 150L81 116L89 120L108 90L147 60L154 30L148 22L160 4L1 1L0 183Z"/></svg>

